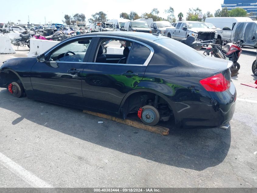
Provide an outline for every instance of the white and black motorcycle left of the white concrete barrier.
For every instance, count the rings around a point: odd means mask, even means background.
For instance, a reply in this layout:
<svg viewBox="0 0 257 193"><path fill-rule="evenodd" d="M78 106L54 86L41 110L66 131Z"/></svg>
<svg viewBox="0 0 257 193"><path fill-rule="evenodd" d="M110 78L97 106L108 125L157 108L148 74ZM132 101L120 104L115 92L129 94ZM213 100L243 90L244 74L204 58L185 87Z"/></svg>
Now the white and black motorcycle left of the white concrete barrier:
<svg viewBox="0 0 257 193"><path fill-rule="evenodd" d="M18 31L14 31L13 33L9 34L9 38L13 45L18 46L18 49L21 45L27 45L28 48L30 48L30 38L32 38L33 35L35 35L35 32L25 31L23 33L20 33Z"/></svg>

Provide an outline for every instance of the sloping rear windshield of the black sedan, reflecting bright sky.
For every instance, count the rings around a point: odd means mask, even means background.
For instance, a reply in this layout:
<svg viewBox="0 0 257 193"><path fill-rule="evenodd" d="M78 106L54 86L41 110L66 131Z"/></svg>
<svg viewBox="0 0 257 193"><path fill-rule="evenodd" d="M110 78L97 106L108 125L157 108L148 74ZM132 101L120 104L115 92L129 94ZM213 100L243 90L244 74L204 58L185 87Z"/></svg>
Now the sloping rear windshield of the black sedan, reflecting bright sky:
<svg viewBox="0 0 257 193"><path fill-rule="evenodd" d="M199 52L189 47L188 45L185 45L171 38L159 39L159 40L156 40L155 42L167 48L175 55L178 55L181 58L188 60L190 63L198 60L202 60L206 57L205 55L200 54Z"/></svg>

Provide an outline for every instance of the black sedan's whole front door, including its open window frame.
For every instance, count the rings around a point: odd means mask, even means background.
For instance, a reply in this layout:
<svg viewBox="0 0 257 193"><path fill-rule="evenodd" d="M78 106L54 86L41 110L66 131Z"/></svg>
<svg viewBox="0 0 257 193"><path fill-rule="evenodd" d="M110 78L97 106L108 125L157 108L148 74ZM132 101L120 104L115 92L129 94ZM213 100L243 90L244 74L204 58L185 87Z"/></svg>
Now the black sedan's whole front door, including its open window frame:
<svg viewBox="0 0 257 193"><path fill-rule="evenodd" d="M94 39L65 42L46 54L45 62L36 62L30 72L36 97L75 105L84 105L82 72Z"/></svg>

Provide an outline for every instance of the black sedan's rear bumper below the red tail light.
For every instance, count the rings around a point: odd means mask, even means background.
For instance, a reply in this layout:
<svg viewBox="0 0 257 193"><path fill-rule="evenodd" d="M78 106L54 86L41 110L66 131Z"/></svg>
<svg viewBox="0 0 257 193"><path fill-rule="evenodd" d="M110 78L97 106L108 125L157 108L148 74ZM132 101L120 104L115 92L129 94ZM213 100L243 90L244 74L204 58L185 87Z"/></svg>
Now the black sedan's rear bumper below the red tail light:
<svg viewBox="0 0 257 193"><path fill-rule="evenodd" d="M212 104L181 103L178 105L180 108L176 109L176 114L182 127L226 127L235 111L237 94L233 82L227 91L209 93Z"/></svg>

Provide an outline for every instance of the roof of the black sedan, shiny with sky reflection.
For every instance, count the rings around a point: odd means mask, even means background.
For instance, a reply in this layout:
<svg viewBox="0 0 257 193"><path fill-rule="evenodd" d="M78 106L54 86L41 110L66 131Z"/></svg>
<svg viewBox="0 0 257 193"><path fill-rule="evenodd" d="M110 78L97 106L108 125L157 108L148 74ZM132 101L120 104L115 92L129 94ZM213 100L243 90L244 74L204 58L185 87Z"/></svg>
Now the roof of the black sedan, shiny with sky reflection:
<svg viewBox="0 0 257 193"><path fill-rule="evenodd" d="M150 33L143 33L143 32L132 32L132 31L110 31L110 32L94 32L94 33L88 33L88 34L81 34L78 36L90 36L90 35L104 35L104 36L119 36L121 38L143 38L143 39L147 39L149 41L155 41L158 39L164 39L164 38L168 38L162 35L154 35L154 34L150 34ZM74 37L78 37L78 36L74 36Z"/></svg>

